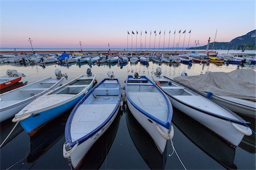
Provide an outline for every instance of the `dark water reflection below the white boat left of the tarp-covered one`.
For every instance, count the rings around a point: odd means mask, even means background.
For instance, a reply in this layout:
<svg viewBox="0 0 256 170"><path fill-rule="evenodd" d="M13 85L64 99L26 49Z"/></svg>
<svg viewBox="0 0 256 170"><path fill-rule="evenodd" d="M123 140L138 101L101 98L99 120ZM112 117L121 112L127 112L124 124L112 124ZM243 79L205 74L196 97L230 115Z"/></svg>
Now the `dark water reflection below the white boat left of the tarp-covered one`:
<svg viewBox="0 0 256 170"><path fill-rule="evenodd" d="M234 164L236 150L223 139L217 137L212 131L177 109L174 109L172 121L205 154L227 169L237 169L237 166Z"/></svg>

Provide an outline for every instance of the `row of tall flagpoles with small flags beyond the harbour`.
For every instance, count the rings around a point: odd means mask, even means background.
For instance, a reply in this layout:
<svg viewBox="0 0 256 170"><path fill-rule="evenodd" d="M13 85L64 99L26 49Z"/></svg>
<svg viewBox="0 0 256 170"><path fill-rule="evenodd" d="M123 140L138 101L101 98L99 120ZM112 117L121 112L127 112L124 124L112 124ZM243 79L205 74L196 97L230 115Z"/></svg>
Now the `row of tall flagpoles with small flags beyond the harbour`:
<svg viewBox="0 0 256 170"><path fill-rule="evenodd" d="M156 40L156 30L153 32L154 35L155 35L155 40ZM136 31L135 33L133 31L131 31L131 33L129 31L127 31L127 50L129 48L129 35L131 35L131 51L133 50L133 35L136 35L136 48L135 50L137 50L137 35L139 34L138 31ZM179 48L179 45L180 45L180 36L181 36L181 29L179 31L179 41L177 42L176 44L176 50ZM186 36L186 30L183 31L183 34L184 34L184 40L183 40L183 46L182 48L184 48L184 42L185 42L185 36ZM188 32L189 34L189 39L188 39L188 47L189 47L189 41L190 41L190 36L191 36L191 30ZM151 49L151 35L152 35L152 32L150 30L150 42L149 42L149 50ZM166 31L164 30L164 39L163 39L163 49L164 49L164 42L165 42L165 38L166 38ZM175 35L176 35L176 30L174 31L174 42L173 42L173 45L172 45L172 48L174 48L174 44L175 44ZM167 50L169 50L170 48L170 37L171 37L171 30L169 31L169 40L168 40L168 48ZM145 41L144 41L144 50L146 50L146 39L147 39L147 31L145 31ZM154 50L155 50L155 40L154 40ZM160 50L160 40L161 40L161 31L159 32L159 44L158 44L158 50ZM143 44L142 44L142 31L141 31L141 50L143 49Z"/></svg>

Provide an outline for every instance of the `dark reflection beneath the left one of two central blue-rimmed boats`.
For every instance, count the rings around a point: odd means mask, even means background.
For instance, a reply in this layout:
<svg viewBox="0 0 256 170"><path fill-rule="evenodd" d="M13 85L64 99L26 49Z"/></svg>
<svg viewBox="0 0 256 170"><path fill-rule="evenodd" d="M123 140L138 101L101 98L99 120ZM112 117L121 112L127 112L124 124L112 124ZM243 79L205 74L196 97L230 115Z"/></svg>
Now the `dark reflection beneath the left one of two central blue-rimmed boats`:
<svg viewBox="0 0 256 170"><path fill-rule="evenodd" d="M109 129L94 143L84 156L79 169L99 169L117 134L121 114L118 113Z"/></svg>

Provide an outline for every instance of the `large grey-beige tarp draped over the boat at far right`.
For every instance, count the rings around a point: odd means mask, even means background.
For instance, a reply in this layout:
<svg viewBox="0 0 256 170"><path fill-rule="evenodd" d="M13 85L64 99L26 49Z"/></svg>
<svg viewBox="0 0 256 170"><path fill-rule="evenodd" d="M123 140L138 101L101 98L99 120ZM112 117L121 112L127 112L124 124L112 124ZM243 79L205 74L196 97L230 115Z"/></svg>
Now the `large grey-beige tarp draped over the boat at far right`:
<svg viewBox="0 0 256 170"><path fill-rule="evenodd" d="M255 76L254 70L241 69L230 73L211 72L196 76L177 76L174 80L200 92L255 101Z"/></svg>

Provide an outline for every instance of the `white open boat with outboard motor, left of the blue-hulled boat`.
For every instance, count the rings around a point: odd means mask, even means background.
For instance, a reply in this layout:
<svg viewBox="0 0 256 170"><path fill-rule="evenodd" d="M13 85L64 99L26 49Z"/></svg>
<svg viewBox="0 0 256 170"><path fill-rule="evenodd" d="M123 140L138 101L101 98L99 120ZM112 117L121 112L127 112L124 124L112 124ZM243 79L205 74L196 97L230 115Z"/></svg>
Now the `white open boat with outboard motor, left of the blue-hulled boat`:
<svg viewBox="0 0 256 170"><path fill-rule="evenodd" d="M0 95L0 122L13 117L22 108L36 98L59 87L64 80L59 70L55 70L57 79L45 78Z"/></svg>

